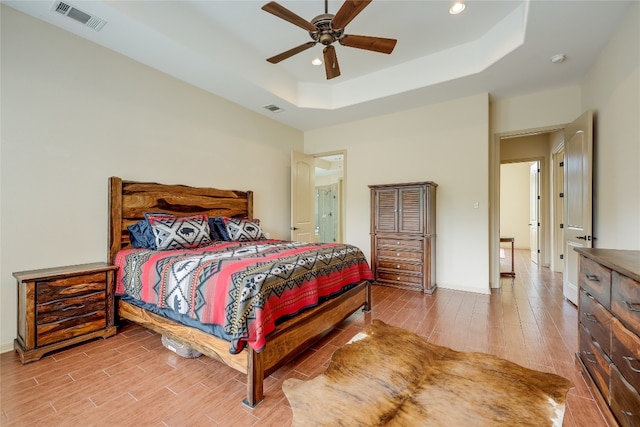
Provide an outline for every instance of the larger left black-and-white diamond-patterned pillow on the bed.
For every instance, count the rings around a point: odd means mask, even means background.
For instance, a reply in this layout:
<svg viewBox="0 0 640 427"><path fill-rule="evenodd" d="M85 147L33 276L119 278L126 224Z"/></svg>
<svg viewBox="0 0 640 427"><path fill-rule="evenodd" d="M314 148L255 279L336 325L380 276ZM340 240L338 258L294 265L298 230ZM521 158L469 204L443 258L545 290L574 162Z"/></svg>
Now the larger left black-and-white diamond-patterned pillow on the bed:
<svg viewBox="0 0 640 427"><path fill-rule="evenodd" d="M192 249L211 243L207 215L148 215L158 250Z"/></svg>

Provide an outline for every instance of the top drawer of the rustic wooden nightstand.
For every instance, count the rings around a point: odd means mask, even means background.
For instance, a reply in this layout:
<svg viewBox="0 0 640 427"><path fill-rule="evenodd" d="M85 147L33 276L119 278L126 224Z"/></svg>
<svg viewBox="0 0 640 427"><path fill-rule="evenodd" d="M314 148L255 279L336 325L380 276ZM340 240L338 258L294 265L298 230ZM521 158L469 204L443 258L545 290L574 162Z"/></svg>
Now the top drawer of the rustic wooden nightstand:
<svg viewBox="0 0 640 427"><path fill-rule="evenodd" d="M107 275L95 273L64 279L36 282L36 303L42 304L62 298L76 297L105 291Z"/></svg>

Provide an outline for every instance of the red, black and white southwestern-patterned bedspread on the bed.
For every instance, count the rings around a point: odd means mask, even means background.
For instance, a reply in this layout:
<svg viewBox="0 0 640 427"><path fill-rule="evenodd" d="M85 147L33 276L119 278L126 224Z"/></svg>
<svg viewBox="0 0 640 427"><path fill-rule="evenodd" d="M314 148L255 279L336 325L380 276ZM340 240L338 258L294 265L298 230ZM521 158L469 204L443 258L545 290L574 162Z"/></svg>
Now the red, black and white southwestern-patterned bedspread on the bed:
<svg viewBox="0 0 640 427"><path fill-rule="evenodd" d="M280 240L216 242L190 250L126 249L116 294L218 325L231 353L261 351L276 321L373 275L360 249Z"/></svg>

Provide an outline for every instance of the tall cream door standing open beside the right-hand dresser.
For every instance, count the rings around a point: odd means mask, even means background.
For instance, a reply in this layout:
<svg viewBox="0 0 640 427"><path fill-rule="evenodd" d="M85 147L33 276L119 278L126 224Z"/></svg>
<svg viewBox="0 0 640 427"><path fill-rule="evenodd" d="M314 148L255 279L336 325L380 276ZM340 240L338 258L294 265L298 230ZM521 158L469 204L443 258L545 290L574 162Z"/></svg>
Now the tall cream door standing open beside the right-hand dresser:
<svg viewBox="0 0 640 427"><path fill-rule="evenodd" d="M593 112L564 130L564 274L563 294L578 304L578 253L592 246Z"/></svg>

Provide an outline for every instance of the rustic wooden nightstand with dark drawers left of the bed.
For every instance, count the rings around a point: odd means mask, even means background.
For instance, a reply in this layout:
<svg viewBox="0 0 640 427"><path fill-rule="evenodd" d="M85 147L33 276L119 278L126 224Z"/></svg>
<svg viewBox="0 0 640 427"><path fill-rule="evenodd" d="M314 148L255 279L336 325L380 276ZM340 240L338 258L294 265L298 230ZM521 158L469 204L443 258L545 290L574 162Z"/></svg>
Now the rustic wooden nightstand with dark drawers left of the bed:
<svg viewBox="0 0 640 427"><path fill-rule="evenodd" d="M22 363L93 338L116 334L114 280L107 263L13 273L18 280L18 337Z"/></svg>

